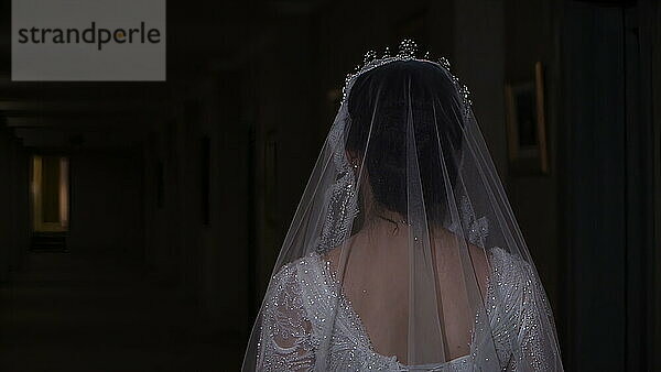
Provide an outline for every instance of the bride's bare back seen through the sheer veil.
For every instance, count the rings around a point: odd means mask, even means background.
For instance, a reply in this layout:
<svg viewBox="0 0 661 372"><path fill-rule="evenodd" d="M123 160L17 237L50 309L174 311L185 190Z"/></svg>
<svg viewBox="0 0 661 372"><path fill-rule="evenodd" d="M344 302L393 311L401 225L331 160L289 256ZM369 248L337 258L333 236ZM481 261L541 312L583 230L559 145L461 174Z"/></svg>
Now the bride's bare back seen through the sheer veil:
<svg viewBox="0 0 661 372"><path fill-rule="evenodd" d="M338 275L343 291L360 317L375 351L407 362L409 333L409 231L384 221L351 237L326 259ZM436 272L436 300L442 320L445 353L451 359L469 353L476 309L467 286L486 293L488 264L485 251L464 239L437 229L432 238L432 263ZM344 264L343 264L344 263ZM464 265L472 265L466 277ZM475 277L477 276L477 277ZM432 325L430 325L432 326Z"/></svg>

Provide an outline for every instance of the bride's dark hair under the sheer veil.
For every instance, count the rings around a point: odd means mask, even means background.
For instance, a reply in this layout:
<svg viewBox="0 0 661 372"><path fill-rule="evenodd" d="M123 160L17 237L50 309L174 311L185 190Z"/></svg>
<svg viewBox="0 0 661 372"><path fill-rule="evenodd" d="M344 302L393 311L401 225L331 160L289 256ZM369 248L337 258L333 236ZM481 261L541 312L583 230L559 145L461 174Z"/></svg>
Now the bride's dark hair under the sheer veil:
<svg viewBox="0 0 661 372"><path fill-rule="evenodd" d="M356 79L348 97L346 149L365 155L364 166L378 205L408 215L407 117L411 114L427 219L443 222L446 185L441 156L454 184L462 146L456 91L442 67L420 61L391 62Z"/></svg>

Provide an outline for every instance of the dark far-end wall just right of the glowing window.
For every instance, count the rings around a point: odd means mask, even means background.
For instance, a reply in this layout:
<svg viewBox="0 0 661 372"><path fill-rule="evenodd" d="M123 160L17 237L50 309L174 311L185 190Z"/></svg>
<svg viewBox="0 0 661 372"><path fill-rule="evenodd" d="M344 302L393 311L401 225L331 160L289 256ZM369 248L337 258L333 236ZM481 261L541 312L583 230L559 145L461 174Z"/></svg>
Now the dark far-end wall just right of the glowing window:
<svg viewBox="0 0 661 372"><path fill-rule="evenodd" d="M72 153L69 164L69 250L141 260L141 153L85 150Z"/></svg>

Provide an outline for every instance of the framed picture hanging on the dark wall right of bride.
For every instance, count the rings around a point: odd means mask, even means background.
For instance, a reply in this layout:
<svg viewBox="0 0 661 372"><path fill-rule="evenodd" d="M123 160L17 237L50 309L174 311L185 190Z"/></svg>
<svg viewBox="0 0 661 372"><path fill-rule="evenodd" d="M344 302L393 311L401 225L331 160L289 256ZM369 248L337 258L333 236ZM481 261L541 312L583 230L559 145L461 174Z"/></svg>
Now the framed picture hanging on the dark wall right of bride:
<svg viewBox="0 0 661 372"><path fill-rule="evenodd" d="M549 174L544 76L542 63L534 65L534 79L506 84L508 157L513 175Z"/></svg>

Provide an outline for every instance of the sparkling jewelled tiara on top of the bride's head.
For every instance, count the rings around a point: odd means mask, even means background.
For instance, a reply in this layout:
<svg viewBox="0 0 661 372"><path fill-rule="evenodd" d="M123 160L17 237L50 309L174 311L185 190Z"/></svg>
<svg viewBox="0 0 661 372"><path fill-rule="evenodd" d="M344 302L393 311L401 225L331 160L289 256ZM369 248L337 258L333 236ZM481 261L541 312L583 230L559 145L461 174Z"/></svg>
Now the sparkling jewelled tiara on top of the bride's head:
<svg viewBox="0 0 661 372"><path fill-rule="evenodd" d="M418 44L415 44L415 42L411 39L402 40L400 42L398 51L394 55L391 54L389 47L386 47L386 50L383 51L383 53L380 57L377 55L377 53L375 51L368 51L365 54L365 57L362 58L362 63L359 64L358 66L356 66L356 69L354 70L354 73L347 74L347 77L345 79L345 85L342 89L342 102L344 103L345 100L347 99L349 89L358 76L360 76L373 68L377 68L379 66L382 66L382 65L386 65L386 64L389 64L392 62L397 62L397 61L427 62L427 63L435 64L435 65L442 67L443 69L445 69L447 75L451 77L457 92L459 94L459 97L462 98L463 106L464 106L464 114L468 116L470 113L470 107L473 105L473 101L470 101L470 91L468 90L468 87L463 85L459 81L459 79L454 74L452 74L452 72L449 70L449 61L447 61L447 58L445 58L445 57L441 57L436 61L432 61L432 59L430 59L430 52L426 52L423 57L418 57Z"/></svg>

